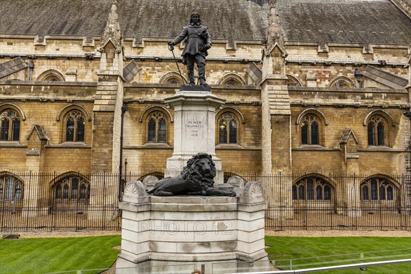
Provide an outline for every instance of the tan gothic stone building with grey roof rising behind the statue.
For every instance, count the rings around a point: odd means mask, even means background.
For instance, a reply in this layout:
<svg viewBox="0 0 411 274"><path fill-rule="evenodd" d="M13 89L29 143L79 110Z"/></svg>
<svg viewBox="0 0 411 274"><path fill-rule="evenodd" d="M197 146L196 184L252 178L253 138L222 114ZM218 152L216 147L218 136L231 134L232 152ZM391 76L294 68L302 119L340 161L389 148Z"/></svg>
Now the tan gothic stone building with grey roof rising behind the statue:
<svg viewBox="0 0 411 274"><path fill-rule="evenodd" d="M0 4L0 199L34 193L18 177L30 171L60 175L52 197L88 199L86 174L119 171L123 105L127 171L163 173L179 123L164 99L183 81L166 42L195 11L212 36L208 84L225 99L215 145L226 174L306 174L282 182L292 205L344 203L338 188L393 200L390 176L410 172L408 0Z"/></svg>

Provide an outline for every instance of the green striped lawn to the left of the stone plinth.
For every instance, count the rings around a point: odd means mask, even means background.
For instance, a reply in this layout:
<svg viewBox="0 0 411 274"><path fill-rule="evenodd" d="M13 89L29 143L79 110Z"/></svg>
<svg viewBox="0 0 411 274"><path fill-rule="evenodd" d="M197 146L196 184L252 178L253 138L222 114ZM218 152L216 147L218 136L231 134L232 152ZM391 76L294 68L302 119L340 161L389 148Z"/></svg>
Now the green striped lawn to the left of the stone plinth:
<svg viewBox="0 0 411 274"><path fill-rule="evenodd" d="M110 268L121 235L0 240L0 273L52 273Z"/></svg>

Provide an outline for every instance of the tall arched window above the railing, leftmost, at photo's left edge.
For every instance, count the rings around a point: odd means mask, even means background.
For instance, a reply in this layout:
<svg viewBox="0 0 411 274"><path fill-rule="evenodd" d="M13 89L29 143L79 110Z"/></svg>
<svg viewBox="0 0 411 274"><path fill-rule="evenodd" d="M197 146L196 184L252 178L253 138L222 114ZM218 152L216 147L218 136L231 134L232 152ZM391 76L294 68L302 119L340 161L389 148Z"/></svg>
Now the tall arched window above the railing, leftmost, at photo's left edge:
<svg viewBox="0 0 411 274"><path fill-rule="evenodd" d="M20 116L14 110L6 110L0 115L0 140L20 140Z"/></svg>

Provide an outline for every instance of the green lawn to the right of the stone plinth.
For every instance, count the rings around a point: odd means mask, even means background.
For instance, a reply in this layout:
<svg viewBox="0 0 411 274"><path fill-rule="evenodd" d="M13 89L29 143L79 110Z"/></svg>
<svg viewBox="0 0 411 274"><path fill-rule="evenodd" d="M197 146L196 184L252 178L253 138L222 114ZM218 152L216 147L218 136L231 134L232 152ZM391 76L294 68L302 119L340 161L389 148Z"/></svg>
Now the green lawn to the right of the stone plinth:
<svg viewBox="0 0 411 274"><path fill-rule="evenodd" d="M411 238L388 237L277 237L266 236L270 260L284 270L309 269L338 264L357 264L411 258ZM399 250L402 249L402 250ZM391 251L386 251L391 250ZM396 251L393 251L396 250ZM374 252L384 251L384 252ZM341 255L346 254L346 255ZM351 255L348 255L351 254ZM322 257L322 258L316 258ZM320 273L411 273L411 264L373 266L368 271L345 269Z"/></svg>

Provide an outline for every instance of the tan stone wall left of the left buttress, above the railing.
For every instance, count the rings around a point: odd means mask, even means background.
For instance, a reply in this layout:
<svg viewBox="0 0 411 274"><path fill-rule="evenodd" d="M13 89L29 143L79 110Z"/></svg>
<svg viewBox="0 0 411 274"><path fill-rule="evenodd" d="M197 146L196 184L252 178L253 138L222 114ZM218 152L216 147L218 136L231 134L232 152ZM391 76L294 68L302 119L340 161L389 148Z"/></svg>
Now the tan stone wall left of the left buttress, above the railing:
<svg viewBox="0 0 411 274"><path fill-rule="evenodd" d="M92 138L92 94L95 84L10 83L1 85L0 109L12 109L21 116L18 142L1 142L1 170L12 172L90 171ZM84 142L66 142L65 115L80 110L85 118ZM45 144L42 168L27 161L27 136L41 125L49 139Z"/></svg>

